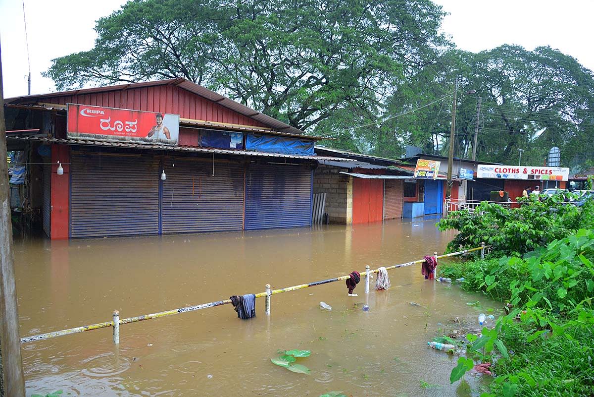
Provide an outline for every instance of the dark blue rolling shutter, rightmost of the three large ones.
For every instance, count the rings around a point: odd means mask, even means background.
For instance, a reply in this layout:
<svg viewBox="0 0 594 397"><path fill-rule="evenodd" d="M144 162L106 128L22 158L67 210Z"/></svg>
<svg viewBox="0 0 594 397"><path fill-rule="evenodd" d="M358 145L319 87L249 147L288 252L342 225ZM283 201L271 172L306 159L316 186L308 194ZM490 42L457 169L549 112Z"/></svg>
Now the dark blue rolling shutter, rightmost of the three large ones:
<svg viewBox="0 0 594 397"><path fill-rule="evenodd" d="M308 165L249 165L245 186L246 230L311 225Z"/></svg>

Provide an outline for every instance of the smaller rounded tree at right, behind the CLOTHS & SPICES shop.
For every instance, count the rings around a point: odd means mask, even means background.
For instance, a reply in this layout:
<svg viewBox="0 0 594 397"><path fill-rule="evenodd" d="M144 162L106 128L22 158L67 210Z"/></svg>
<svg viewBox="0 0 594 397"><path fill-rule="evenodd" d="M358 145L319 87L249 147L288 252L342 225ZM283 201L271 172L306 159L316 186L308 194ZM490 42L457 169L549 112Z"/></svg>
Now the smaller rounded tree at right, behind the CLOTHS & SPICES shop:
<svg viewBox="0 0 594 397"><path fill-rule="evenodd" d="M447 156L451 96L421 107L451 94L456 80L455 156L469 157L472 153L480 97L479 160L517 163L517 149L523 149L523 163L542 165L552 146L561 148L565 166L592 158L592 72L571 56L549 47L527 51L508 45L480 53L447 52L435 65L428 65L397 87L383 118L377 119L372 128L358 131L367 141L369 152L385 156L392 151L397 156L403 154L405 144L414 144L425 153ZM476 93L466 94L469 90ZM359 136L353 139L361 140Z"/></svg>

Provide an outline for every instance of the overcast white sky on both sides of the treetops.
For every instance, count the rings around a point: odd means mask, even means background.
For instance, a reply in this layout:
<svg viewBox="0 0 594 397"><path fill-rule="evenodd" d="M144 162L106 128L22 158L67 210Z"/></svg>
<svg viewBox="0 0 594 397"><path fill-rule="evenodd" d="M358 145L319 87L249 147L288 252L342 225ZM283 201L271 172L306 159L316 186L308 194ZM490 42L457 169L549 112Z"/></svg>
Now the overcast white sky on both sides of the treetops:
<svg viewBox="0 0 594 397"><path fill-rule="evenodd" d="M550 45L594 70L593 0L434 0L450 12L443 30L456 45L478 52L502 44L527 49ZM31 59L31 93L55 91L43 78L53 58L93 46L94 21L123 0L24 0ZM0 0L4 96L27 94L28 73L22 0Z"/></svg>

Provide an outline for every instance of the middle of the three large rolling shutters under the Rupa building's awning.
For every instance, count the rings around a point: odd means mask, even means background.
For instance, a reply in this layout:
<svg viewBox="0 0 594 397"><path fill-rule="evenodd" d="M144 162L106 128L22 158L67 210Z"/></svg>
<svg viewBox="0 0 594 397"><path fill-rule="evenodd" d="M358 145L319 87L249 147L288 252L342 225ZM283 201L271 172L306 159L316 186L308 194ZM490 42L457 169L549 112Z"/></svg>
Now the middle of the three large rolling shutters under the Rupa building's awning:
<svg viewBox="0 0 594 397"><path fill-rule="evenodd" d="M238 231L244 222L244 165L200 160L165 164L162 232Z"/></svg>

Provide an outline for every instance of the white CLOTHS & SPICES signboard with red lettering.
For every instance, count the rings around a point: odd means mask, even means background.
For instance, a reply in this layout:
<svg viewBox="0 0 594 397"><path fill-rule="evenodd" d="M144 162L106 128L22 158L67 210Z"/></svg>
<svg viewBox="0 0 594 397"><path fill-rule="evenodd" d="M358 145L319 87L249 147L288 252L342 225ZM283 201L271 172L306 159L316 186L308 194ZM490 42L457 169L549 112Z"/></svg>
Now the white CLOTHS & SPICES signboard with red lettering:
<svg viewBox="0 0 594 397"><path fill-rule="evenodd" d="M479 164L476 168L476 177L492 179L541 179L543 181L567 181L567 179L569 179L569 168Z"/></svg>

